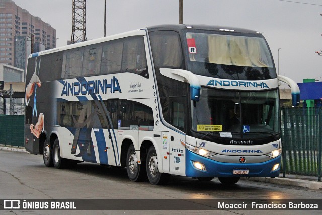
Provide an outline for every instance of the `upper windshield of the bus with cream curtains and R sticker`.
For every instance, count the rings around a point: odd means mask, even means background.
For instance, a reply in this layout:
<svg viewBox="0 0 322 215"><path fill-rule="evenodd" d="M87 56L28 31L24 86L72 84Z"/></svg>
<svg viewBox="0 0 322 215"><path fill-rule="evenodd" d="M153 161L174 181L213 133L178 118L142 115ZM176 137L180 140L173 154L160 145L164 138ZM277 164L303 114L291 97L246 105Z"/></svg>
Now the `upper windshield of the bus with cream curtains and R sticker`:
<svg viewBox="0 0 322 215"><path fill-rule="evenodd" d="M276 78L270 51L260 36L187 32L189 70L225 79Z"/></svg>

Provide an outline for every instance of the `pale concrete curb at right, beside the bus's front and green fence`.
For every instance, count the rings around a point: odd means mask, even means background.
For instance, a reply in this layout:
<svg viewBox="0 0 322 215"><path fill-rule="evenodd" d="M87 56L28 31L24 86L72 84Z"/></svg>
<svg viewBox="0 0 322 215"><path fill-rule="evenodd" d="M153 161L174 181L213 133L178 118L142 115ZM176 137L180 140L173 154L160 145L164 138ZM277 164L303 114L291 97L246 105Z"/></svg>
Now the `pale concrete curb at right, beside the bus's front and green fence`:
<svg viewBox="0 0 322 215"><path fill-rule="evenodd" d="M242 179L242 178L240 178L240 179ZM244 180L322 190L322 182L320 182L320 181L309 181L309 180L303 180L303 179L280 178L280 177L278 177L278 178L254 177L254 178L244 178Z"/></svg>

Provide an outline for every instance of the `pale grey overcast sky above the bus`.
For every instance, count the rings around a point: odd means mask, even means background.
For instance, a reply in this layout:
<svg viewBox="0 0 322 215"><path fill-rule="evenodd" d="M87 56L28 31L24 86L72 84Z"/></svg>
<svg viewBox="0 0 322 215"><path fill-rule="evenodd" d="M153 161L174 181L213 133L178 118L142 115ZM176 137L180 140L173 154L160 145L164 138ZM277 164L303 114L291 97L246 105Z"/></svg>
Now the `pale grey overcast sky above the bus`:
<svg viewBox="0 0 322 215"><path fill-rule="evenodd" d="M72 30L72 0L13 0L57 31L57 47ZM179 0L107 0L107 36L179 23ZM295 82L322 81L322 0L183 0L184 24L255 30L266 38L277 71ZM104 36L104 0L86 1L86 36ZM280 50L279 50L280 49ZM279 51L278 51L279 50ZM279 53L279 54L278 54Z"/></svg>

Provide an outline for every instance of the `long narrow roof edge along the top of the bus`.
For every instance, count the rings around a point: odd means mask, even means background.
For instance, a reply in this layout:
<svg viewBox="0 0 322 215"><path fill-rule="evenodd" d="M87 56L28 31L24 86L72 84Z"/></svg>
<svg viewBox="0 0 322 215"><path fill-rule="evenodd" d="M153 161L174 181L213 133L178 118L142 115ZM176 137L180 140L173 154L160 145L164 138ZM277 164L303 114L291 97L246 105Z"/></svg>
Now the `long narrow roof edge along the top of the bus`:
<svg viewBox="0 0 322 215"><path fill-rule="evenodd" d="M162 31L162 30L172 30L172 31L180 31L183 29L199 29L199 30L212 30L212 31L226 31L226 32L236 32L236 33L250 33L250 34L259 34L259 32L253 31L253 30L248 30L248 29L242 29L242 28L234 28L234 27L226 27L226 26L211 26L211 25L186 25L186 24L169 24L169 25L155 25L155 26L150 26L150 27L145 27L133 31L128 31L120 34L115 34L115 35L110 35L106 37L101 37L93 40L88 40L84 42L79 42L79 43L74 43L71 45L66 45L66 46L61 46L53 49L48 49L45 51L40 51L37 53L32 53L29 55L29 58L31 57L36 57L40 55L45 55L49 53L54 53L58 51L64 51L68 50L71 48L77 48L77 47L82 47L86 45L91 45L91 44L96 44L100 42L105 42L113 39L118 39L118 38L123 38L123 37L129 37L129 36L135 36L135 35L145 35L146 31L148 30L149 32L151 31Z"/></svg>

